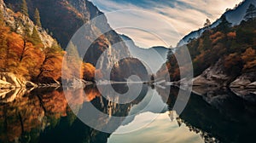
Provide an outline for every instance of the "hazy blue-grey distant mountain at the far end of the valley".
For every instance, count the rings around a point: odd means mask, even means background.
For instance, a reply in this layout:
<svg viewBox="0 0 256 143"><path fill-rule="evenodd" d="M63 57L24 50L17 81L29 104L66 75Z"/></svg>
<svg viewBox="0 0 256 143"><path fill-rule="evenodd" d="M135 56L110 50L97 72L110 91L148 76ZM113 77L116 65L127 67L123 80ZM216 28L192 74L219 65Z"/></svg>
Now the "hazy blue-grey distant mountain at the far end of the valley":
<svg viewBox="0 0 256 143"><path fill-rule="evenodd" d="M143 49L137 47L130 37L125 35L121 35L121 37L125 41L131 56L145 62L148 67L151 67L152 72L157 72L160 66L166 62L167 48L159 46Z"/></svg>

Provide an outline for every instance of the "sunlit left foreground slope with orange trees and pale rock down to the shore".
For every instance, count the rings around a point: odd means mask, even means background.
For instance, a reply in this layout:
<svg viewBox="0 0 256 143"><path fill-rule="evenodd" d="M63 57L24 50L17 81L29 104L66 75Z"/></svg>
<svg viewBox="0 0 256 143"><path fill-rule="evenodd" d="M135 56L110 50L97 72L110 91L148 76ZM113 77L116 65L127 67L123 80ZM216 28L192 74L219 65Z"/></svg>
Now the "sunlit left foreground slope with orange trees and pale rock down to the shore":
<svg viewBox="0 0 256 143"><path fill-rule="evenodd" d="M25 87L27 80L58 79L63 51L55 39L26 14L8 9L3 0L0 17L0 80Z"/></svg>

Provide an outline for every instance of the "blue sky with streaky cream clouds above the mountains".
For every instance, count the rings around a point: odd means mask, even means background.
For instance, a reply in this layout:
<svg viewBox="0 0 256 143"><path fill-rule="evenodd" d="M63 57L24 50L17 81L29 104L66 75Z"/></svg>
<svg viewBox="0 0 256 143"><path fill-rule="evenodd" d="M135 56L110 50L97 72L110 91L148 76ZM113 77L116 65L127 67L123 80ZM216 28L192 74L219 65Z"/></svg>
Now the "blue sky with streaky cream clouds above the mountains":
<svg viewBox="0 0 256 143"><path fill-rule="evenodd" d="M214 22L242 0L90 0L108 23L142 48L175 47L178 41Z"/></svg>

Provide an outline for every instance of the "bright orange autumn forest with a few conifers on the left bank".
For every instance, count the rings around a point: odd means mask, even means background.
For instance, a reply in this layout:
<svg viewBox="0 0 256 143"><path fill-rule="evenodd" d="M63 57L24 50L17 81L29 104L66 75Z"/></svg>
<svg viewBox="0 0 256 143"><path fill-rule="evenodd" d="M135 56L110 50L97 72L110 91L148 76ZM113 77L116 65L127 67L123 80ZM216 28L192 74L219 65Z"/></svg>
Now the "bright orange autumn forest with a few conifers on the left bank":
<svg viewBox="0 0 256 143"><path fill-rule="evenodd" d="M20 19L29 16L26 0L20 4L20 11L15 13ZM16 22L16 21L15 21ZM0 11L0 72L12 72L18 77L25 77L34 83L49 83L61 80L61 67L66 52L55 40L50 47L45 47L38 36L38 29L44 29L40 22L38 9L33 14L34 27L22 26L22 33L9 26ZM17 27L22 23L16 22ZM49 35L52 35L49 32ZM80 60L79 74L85 80L93 80L95 67ZM72 76L70 73L69 76Z"/></svg>

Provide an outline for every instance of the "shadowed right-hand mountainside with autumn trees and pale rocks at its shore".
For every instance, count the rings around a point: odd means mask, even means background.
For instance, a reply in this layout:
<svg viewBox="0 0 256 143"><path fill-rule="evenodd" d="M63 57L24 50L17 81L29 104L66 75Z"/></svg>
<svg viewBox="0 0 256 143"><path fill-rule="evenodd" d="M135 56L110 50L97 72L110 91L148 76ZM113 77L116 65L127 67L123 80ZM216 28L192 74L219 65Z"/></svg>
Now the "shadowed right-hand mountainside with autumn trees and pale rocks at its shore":
<svg viewBox="0 0 256 143"><path fill-rule="evenodd" d="M227 11L216 21L218 25L201 31L200 37L186 44L194 66L195 86L255 88L256 15L243 20L251 3L255 1L244 1ZM174 54L168 54L166 65L171 78L180 80L179 75L186 67L177 66Z"/></svg>

